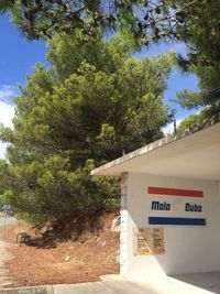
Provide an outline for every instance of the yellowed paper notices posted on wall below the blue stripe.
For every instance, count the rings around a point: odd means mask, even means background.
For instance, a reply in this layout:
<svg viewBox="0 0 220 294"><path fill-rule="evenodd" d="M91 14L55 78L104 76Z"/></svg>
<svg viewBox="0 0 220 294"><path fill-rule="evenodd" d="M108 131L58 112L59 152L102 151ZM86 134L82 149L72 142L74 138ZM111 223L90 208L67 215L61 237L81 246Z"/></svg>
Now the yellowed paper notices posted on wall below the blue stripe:
<svg viewBox="0 0 220 294"><path fill-rule="evenodd" d="M164 254L164 229L139 227L134 228L134 255Z"/></svg>

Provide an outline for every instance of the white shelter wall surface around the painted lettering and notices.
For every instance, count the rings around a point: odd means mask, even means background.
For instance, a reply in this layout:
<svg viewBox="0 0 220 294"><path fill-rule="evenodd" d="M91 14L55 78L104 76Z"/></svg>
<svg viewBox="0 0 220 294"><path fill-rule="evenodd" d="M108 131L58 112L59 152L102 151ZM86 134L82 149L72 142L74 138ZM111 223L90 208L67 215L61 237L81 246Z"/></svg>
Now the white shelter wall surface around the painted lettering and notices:
<svg viewBox="0 0 220 294"><path fill-rule="evenodd" d="M133 280L145 280L158 274L183 274L220 270L220 183L128 174L123 181L121 274ZM175 187L204 190L204 198L179 197L176 209L152 211L152 199L175 202L173 196L147 194L147 186ZM124 188L125 187L125 188ZM125 200L124 200L125 199ZM164 228L165 254L134 255L133 228L156 227L148 225L148 216L185 216L182 209L186 202L202 206L201 213L187 213L189 217L205 217L206 226L160 225ZM178 208L180 207L180 208Z"/></svg>

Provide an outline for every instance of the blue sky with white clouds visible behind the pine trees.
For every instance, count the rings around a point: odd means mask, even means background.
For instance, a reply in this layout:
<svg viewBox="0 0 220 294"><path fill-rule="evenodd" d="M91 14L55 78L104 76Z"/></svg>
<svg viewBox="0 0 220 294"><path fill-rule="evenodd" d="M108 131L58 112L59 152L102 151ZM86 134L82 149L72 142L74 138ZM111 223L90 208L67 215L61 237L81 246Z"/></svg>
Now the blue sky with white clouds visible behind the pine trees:
<svg viewBox="0 0 220 294"><path fill-rule="evenodd" d="M12 127L11 119L14 113L13 97L18 95L18 84L25 84L26 74L31 75L32 67L40 62L47 65L45 59L46 44L42 41L28 42L8 20L0 17L0 122ZM185 53L182 44L152 46L148 50L135 54L135 57L147 55L153 56L157 53L174 50ZM197 79L193 75L180 75L174 70L168 79L167 90L165 91L165 101L168 102L175 94L183 88L196 90ZM177 105L173 105L177 109L176 119L179 121L188 111L183 110ZM169 130L169 126L166 131ZM4 145L0 142L0 157L3 157Z"/></svg>

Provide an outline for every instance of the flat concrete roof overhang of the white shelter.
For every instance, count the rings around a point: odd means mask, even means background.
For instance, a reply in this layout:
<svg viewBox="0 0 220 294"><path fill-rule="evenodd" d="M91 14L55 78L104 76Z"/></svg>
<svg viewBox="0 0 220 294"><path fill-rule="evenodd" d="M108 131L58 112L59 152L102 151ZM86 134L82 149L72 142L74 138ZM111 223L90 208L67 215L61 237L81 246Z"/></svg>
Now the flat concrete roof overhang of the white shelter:
<svg viewBox="0 0 220 294"><path fill-rule="evenodd" d="M142 173L220 179L220 122L193 133L165 137L91 171L92 175Z"/></svg>

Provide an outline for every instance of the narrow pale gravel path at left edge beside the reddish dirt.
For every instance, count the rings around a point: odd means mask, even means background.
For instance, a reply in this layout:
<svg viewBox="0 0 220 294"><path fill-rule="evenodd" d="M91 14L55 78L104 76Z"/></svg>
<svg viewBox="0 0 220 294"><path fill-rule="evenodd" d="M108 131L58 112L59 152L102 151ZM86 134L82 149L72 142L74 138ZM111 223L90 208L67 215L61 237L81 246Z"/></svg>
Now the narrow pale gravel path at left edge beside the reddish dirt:
<svg viewBox="0 0 220 294"><path fill-rule="evenodd" d="M7 279L7 270L4 269L4 262L11 257L7 252L7 243L1 238L3 229L4 227L0 226L0 288L11 284Z"/></svg>

